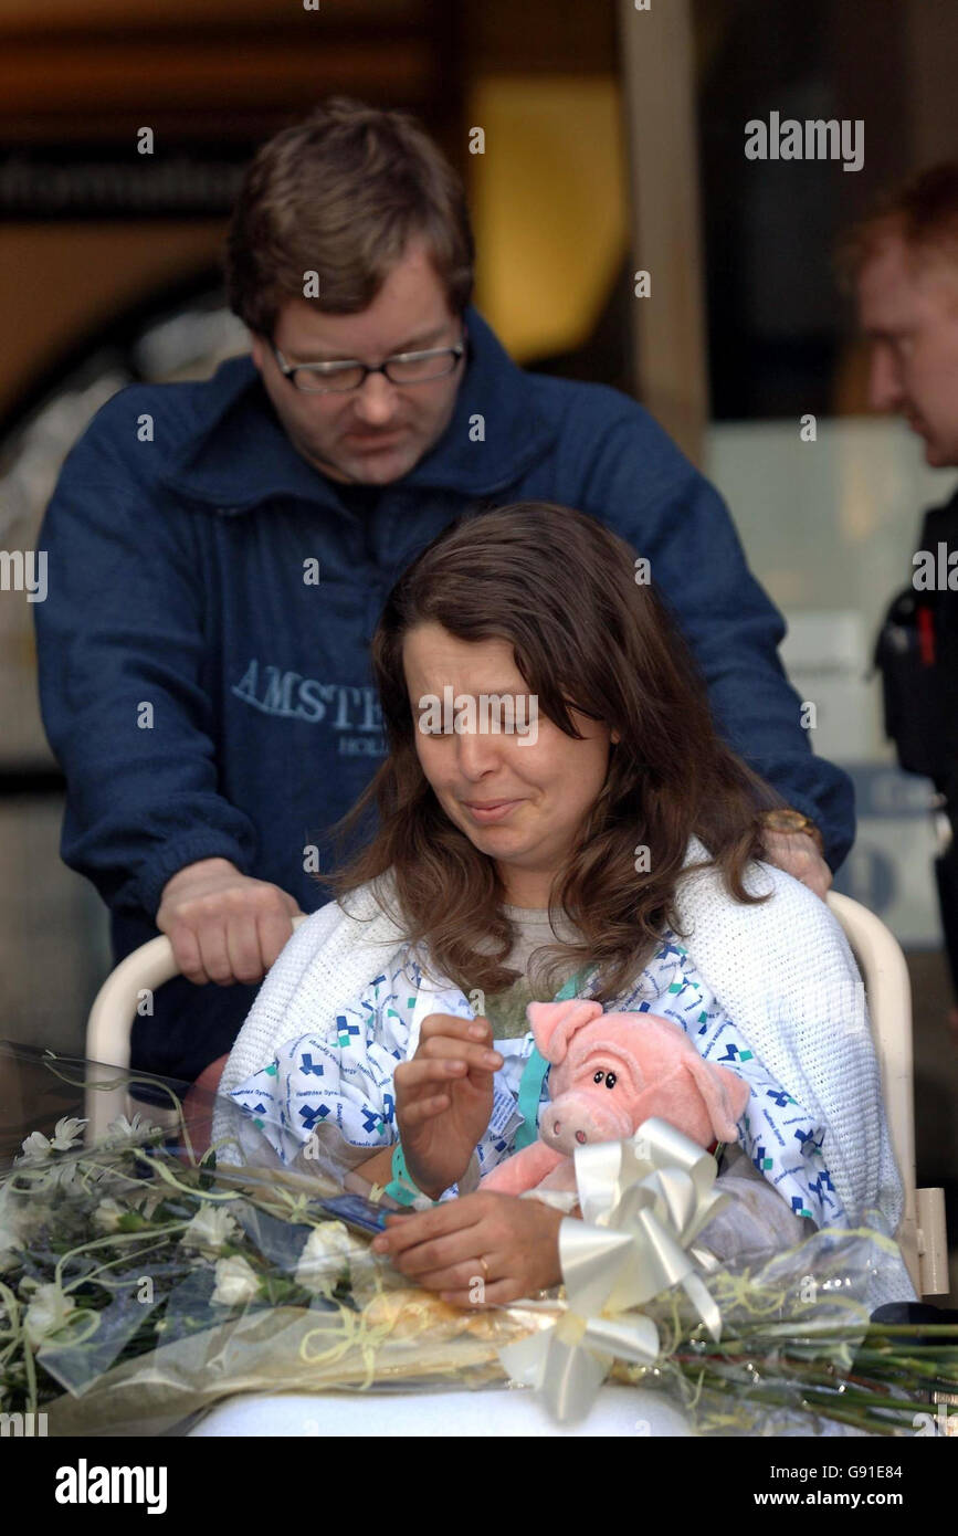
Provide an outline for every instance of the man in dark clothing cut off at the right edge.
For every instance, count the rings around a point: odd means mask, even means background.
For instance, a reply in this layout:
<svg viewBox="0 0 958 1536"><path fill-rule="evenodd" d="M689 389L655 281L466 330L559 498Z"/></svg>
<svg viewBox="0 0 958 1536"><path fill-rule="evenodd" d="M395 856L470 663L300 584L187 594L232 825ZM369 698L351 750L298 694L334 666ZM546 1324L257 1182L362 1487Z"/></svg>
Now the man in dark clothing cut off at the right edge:
<svg viewBox="0 0 958 1536"><path fill-rule="evenodd" d="M935 166L852 229L841 264L870 343L869 401L897 412L935 468L958 467L958 163ZM924 515L912 574L915 622L933 677L929 762L952 836L937 860L941 919L958 992L958 495ZM915 690L912 710L927 705ZM937 702L935 702L937 700ZM901 699L907 711L909 699ZM924 754L923 754L924 756ZM958 1029L958 1011L952 1011Z"/></svg>

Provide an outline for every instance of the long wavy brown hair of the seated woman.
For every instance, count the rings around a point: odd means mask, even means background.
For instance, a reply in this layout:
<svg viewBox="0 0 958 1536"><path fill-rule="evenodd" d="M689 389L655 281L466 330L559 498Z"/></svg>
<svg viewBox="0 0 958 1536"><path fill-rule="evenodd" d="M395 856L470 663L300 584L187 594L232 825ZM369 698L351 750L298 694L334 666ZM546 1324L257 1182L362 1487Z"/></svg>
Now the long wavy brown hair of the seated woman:
<svg viewBox="0 0 958 1536"><path fill-rule="evenodd" d="M677 928L676 882L692 834L729 894L754 900L745 866L761 857L761 809L781 799L717 736L688 647L654 587L637 581L629 545L550 502L453 524L393 587L372 647L388 757L336 831L349 839L373 806L379 826L332 877L339 900L391 871L399 911L381 882L378 899L430 971L491 995L516 978L504 966L513 934L494 862L450 822L416 756L402 645L421 624L461 641L508 641L540 714L576 739L573 708L619 734L553 886L550 911L565 912L582 942L550 946L550 978L596 965L594 995L608 1003L622 992L662 929ZM648 857L636 857L640 848Z"/></svg>

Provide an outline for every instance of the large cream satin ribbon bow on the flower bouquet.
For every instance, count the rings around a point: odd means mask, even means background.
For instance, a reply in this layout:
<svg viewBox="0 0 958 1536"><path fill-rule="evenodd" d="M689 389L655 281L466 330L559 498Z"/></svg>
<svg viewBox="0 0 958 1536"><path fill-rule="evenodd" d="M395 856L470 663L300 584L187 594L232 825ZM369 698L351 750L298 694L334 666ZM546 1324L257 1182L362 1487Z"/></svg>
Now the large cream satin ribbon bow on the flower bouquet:
<svg viewBox="0 0 958 1536"><path fill-rule="evenodd" d="M712 1189L709 1152L665 1120L631 1140L576 1147L582 1220L559 1227L565 1312L543 1332L499 1352L510 1378L537 1389L560 1421L582 1418L614 1359L652 1366L656 1322L633 1309L682 1286L717 1341L722 1313L686 1252L728 1197ZM695 1263L699 1258L699 1264Z"/></svg>

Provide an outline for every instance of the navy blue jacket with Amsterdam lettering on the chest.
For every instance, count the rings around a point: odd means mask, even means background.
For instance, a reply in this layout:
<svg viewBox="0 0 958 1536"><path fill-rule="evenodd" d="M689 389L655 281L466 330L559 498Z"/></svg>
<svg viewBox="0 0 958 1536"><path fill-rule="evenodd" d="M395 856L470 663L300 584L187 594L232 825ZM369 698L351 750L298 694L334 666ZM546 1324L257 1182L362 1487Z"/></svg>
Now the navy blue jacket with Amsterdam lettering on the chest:
<svg viewBox="0 0 958 1536"><path fill-rule="evenodd" d="M69 785L63 859L109 903L118 955L155 934L163 886L198 859L230 859L304 911L329 899L306 849L382 756L368 641L385 594L453 518L525 498L593 513L651 559L722 733L815 819L832 866L847 852L851 782L811 753L777 659L783 621L715 490L633 399L525 373L474 309L467 323L451 421L370 519L292 447L250 358L120 390L68 456L40 538L40 693ZM183 1068L197 1032L210 1060L253 995L175 988L180 1012L206 997L203 1023L177 1043L169 1018L138 1021L160 1041L140 1066Z"/></svg>

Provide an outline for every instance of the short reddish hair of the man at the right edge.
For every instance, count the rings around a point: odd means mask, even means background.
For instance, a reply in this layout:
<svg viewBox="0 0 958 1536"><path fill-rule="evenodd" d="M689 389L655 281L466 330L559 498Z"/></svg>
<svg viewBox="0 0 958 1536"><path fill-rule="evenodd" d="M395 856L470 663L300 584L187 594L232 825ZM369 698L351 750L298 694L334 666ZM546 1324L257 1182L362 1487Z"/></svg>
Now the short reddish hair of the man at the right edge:
<svg viewBox="0 0 958 1536"><path fill-rule="evenodd" d="M898 235L918 260L944 257L958 264L958 161L921 170L844 232L837 263L847 286L889 235Z"/></svg>

